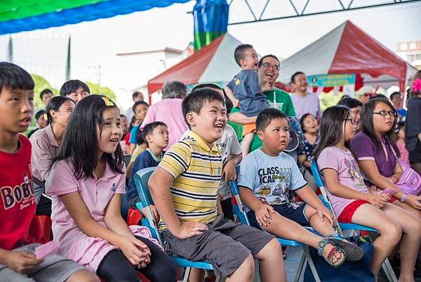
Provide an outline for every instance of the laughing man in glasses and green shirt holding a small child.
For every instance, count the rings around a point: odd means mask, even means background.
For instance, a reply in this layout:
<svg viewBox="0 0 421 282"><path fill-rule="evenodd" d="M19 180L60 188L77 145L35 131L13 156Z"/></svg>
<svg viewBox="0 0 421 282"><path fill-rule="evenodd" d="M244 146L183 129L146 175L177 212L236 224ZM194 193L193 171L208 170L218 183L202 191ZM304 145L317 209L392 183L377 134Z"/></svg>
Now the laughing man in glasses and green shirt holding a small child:
<svg viewBox="0 0 421 282"><path fill-rule="evenodd" d="M276 79L279 77L279 60L274 55L266 55L263 56L258 64L258 76L259 76L259 83L260 84L272 84L274 85ZM295 117L295 110L293 106L293 101L291 100L290 96L286 91L281 89L277 89L276 87L273 90L266 91L264 93L266 95L267 100L270 103L282 103L281 110L285 113L288 117ZM235 122L237 124L248 124L256 122L257 117L246 117L242 113L239 113L239 108L232 108L231 113L229 115L229 120L231 122ZM238 135L238 129L236 131ZM258 138L257 135L253 137L253 141L250 145L250 152L256 150L262 146L262 141Z"/></svg>

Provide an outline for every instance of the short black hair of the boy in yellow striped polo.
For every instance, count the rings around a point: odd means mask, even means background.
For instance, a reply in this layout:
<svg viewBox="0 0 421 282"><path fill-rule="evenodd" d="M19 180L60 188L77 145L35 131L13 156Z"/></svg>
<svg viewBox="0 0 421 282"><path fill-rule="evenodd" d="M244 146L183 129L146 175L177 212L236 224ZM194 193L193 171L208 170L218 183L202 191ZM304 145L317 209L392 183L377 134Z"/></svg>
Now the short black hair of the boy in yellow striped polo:
<svg viewBox="0 0 421 282"><path fill-rule="evenodd" d="M203 105L205 105L206 102L210 103L212 101L219 101L225 105L225 99L222 98L222 96L217 91L209 88L199 89L185 96L185 98L182 100L181 110L189 129L191 129L191 127L187 121L187 114L200 114Z"/></svg>

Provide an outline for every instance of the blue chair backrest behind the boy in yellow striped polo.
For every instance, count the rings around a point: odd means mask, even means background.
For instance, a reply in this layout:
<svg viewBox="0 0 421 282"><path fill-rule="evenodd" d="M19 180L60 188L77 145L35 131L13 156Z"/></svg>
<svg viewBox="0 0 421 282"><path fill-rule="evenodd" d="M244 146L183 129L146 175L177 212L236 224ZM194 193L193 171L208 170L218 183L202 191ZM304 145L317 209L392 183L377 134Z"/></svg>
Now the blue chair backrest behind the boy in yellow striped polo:
<svg viewBox="0 0 421 282"><path fill-rule="evenodd" d="M147 167L136 172L135 185L136 190L138 190L138 196L140 200L140 203L136 203L136 206L140 211L142 208L145 209L147 221L142 220L142 224L149 228L152 236L154 236L154 238L156 238L162 245L161 236L159 236L158 222L155 221L154 214L151 210L151 205L154 205L154 202L152 200L151 193L149 192L149 186L147 184L149 177L151 177L152 172L154 172L155 169L156 167Z"/></svg>

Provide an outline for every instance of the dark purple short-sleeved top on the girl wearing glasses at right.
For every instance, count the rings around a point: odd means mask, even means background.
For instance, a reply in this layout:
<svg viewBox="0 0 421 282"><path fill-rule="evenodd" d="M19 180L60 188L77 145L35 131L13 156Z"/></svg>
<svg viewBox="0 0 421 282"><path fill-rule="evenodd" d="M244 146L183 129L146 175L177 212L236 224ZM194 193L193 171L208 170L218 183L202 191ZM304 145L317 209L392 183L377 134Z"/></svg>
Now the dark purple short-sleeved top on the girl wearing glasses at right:
<svg viewBox="0 0 421 282"><path fill-rule="evenodd" d="M384 177L391 177L396 165L392 147L385 137L377 143L378 146L376 147L370 137L363 132L359 132L351 140L351 150L357 160L374 160L380 174ZM370 185L370 182L368 182L368 185Z"/></svg>

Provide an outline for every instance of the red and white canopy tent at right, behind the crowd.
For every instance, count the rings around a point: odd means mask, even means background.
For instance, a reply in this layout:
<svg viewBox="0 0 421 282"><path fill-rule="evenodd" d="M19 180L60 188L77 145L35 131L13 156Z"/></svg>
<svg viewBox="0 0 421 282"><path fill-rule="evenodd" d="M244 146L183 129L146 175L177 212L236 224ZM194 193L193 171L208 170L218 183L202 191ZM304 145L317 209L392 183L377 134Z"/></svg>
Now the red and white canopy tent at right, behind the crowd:
<svg viewBox="0 0 421 282"><path fill-rule="evenodd" d="M297 71L306 75L354 73L361 75L364 85L398 85L403 92L417 69L347 20L283 60L278 80L288 83Z"/></svg>

